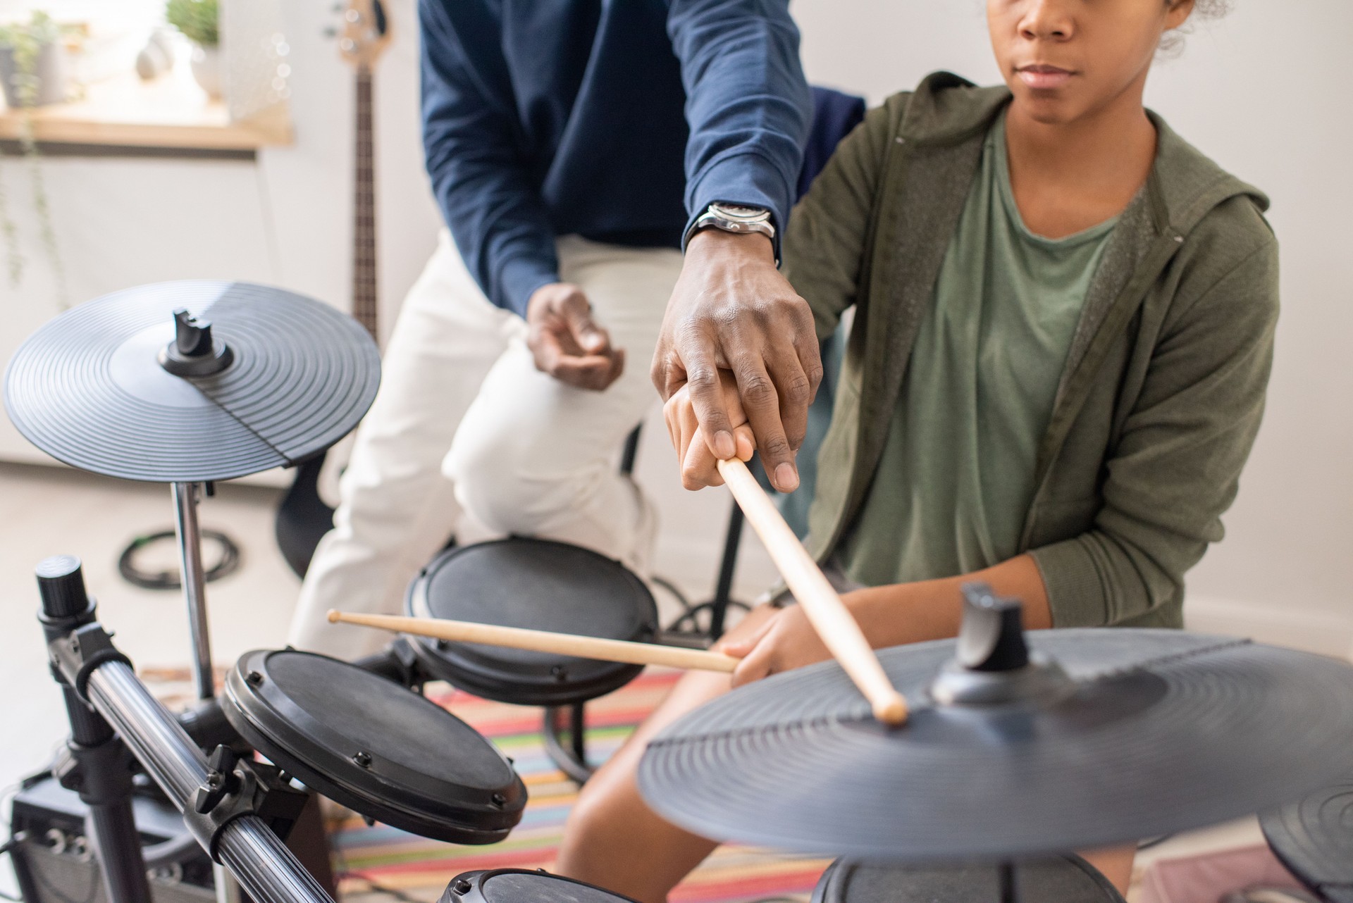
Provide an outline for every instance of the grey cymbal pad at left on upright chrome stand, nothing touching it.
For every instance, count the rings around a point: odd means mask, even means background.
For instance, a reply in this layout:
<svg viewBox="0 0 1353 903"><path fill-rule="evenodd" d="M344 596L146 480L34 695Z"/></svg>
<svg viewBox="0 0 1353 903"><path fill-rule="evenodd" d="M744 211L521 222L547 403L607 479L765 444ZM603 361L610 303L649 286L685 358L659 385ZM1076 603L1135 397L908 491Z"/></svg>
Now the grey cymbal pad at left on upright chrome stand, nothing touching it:
<svg viewBox="0 0 1353 903"><path fill-rule="evenodd" d="M350 316L279 288L195 280L104 295L39 328L9 362L5 407L30 442L81 470L204 483L325 450L379 381L376 345Z"/></svg>

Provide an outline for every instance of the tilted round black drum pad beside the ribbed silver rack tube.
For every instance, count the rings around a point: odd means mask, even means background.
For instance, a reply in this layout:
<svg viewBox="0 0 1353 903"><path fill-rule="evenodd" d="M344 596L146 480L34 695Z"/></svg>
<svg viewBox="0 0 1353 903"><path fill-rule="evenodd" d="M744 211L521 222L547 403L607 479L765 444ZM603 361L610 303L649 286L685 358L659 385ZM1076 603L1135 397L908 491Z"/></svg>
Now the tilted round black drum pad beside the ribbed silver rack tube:
<svg viewBox="0 0 1353 903"><path fill-rule="evenodd" d="M246 653L222 710L254 749L363 815L452 844L494 844L526 788L469 725L421 695L314 653Z"/></svg>

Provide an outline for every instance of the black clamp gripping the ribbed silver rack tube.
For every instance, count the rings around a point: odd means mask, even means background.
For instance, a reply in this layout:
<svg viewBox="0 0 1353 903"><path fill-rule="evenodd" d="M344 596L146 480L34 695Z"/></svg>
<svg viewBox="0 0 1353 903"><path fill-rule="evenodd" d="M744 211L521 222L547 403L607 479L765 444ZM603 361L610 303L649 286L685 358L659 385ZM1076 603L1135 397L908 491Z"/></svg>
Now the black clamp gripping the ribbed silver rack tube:
<svg viewBox="0 0 1353 903"><path fill-rule="evenodd" d="M281 779L281 769L262 762L241 760L229 746L216 746L207 758L207 776L185 806L183 821L207 850L221 862L221 833L230 822L257 815L281 839L287 839L308 794Z"/></svg>

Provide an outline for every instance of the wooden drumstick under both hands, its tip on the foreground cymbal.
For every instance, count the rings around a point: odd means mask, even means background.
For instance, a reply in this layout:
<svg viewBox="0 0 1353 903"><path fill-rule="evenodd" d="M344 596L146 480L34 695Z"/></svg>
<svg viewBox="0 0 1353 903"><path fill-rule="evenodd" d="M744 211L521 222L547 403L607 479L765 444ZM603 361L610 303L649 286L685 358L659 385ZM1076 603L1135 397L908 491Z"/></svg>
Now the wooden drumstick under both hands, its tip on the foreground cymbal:
<svg viewBox="0 0 1353 903"><path fill-rule="evenodd" d="M804 614L808 615L817 635L865 693L870 708L874 710L874 718L894 726L905 722L907 700L884 673L878 656L865 639L846 603L836 595L832 584L827 583L821 568L785 523L785 518L779 515L770 496L762 491L756 477L737 458L720 461L718 473L747 515L748 523L762 538L766 552L794 592L794 599L804 607Z"/></svg>

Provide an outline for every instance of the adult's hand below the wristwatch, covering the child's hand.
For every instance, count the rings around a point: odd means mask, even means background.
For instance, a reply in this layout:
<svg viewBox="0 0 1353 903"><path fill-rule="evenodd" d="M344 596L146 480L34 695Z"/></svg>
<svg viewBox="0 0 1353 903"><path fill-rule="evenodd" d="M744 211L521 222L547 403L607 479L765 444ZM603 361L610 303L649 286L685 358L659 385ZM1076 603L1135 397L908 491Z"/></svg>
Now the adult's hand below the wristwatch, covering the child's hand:
<svg viewBox="0 0 1353 903"><path fill-rule="evenodd" d="M691 237L653 354L663 399L689 387L710 454L737 453L720 391L731 370L756 447L781 492L798 487L794 453L823 379L813 314L775 269L770 239L706 228Z"/></svg>

